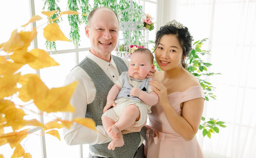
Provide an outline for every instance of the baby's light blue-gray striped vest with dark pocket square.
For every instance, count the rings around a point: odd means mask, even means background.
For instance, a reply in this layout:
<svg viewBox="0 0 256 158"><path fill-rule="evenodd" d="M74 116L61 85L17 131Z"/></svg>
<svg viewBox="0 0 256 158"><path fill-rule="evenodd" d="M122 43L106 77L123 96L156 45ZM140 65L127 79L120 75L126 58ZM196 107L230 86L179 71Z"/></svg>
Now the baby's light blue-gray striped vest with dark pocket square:
<svg viewBox="0 0 256 158"><path fill-rule="evenodd" d="M136 100L137 102L143 103L143 101L141 99L139 99L138 97L130 95L130 91L132 90L133 87L128 82L128 77L130 77L128 72L123 72L121 75L122 75L122 83L124 86L118 93L116 99L123 97L123 98L129 98L129 99ZM140 82L140 84L138 85L138 88L147 93L147 88L149 85L150 78L146 78L145 80L138 80L138 79L132 78L131 80L136 80L136 81Z"/></svg>

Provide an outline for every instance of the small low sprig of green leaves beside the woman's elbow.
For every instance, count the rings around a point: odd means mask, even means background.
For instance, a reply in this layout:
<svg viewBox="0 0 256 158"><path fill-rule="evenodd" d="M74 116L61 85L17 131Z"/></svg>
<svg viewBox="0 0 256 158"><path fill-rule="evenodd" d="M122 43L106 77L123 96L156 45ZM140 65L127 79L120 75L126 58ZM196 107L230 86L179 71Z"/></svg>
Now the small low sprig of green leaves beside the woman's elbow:
<svg viewBox="0 0 256 158"><path fill-rule="evenodd" d="M202 116L201 120L204 121L204 123L199 125L199 129L203 129L203 136L208 136L208 138L211 138L211 133L219 133L218 127L227 127L226 125L223 125L225 122L214 120L213 118L210 118L209 121L205 121L205 118Z"/></svg>

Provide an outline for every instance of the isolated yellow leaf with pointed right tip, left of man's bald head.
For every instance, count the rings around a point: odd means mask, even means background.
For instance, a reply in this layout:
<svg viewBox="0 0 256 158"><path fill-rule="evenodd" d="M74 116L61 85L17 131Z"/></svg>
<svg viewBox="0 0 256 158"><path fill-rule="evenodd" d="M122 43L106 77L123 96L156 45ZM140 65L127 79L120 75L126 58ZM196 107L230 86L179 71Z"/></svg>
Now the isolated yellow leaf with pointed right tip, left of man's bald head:
<svg viewBox="0 0 256 158"><path fill-rule="evenodd" d="M48 24L43 29L43 36L48 41L70 41L65 35L62 33L60 27L56 23Z"/></svg>

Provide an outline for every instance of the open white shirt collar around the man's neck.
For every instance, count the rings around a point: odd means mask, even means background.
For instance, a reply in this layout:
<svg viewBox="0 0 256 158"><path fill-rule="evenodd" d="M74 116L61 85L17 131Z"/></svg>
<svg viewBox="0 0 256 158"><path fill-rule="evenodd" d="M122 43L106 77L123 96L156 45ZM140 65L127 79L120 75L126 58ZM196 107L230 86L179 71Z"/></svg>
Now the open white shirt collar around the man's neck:
<svg viewBox="0 0 256 158"><path fill-rule="evenodd" d="M107 68L110 66L110 64L112 66L114 66L114 68L116 68L116 64L112 58L112 54L111 54L110 62L106 62L105 60L97 57L96 55L93 55L90 50L89 50L87 57L92 59L92 61L94 61L96 64L98 64L100 66L100 68L104 71L107 71Z"/></svg>

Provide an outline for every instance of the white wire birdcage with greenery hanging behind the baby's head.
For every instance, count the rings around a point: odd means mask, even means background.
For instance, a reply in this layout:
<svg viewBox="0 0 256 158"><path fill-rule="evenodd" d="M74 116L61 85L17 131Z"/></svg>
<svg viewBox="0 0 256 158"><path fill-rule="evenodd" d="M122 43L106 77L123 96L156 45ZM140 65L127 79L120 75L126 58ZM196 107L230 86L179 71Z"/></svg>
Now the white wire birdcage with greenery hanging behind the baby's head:
<svg viewBox="0 0 256 158"><path fill-rule="evenodd" d="M130 58L131 45L148 47L148 29L143 27L143 19L146 14L133 7L132 0L130 7L119 14L119 36L117 41L117 55Z"/></svg>

